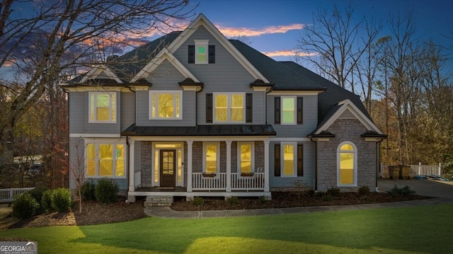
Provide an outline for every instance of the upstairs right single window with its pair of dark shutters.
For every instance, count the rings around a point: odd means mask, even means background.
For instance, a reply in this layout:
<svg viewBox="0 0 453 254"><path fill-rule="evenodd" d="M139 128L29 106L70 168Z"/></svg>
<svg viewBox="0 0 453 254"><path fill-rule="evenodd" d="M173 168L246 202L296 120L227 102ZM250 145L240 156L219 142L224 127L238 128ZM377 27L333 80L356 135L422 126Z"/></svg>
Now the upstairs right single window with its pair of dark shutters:
<svg viewBox="0 0 453 254"><path fill-rule="evenodd" d="M297 96L277 96L274 99L276 125L302 125L304 101Z"/></svg>

